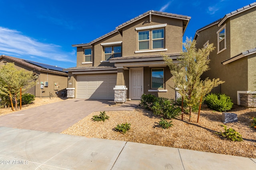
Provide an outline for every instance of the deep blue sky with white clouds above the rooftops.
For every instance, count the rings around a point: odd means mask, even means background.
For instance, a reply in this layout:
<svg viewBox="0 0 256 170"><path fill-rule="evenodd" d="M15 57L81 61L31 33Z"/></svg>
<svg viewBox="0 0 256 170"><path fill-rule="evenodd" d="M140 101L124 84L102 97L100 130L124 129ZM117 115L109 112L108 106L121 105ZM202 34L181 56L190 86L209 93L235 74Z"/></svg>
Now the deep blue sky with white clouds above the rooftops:
<svg viewBox="0 0 256 170"><path fill-rule="evenodd" d="M0 55L64 68L76 66L73 44L88 43L149 10L190 16L183 41L255 0L0 0Z"/></svg>

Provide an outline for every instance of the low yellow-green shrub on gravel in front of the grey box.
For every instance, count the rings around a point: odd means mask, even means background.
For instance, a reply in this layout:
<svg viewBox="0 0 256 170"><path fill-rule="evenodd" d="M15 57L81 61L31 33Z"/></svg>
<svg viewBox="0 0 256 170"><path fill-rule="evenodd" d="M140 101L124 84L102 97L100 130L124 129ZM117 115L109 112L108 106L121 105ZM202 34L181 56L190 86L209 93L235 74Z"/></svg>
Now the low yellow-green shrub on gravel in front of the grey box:
<svg viewBox="0 0 256 170"><path fill-rule="evenodd" d="M226 139L230 139L231 141L238 141L238 142L243 141L242 135L240 135L240 133L238 133L232 128L227 129L226 125L221 125L221 126L224 127L224 132L220 132L220 133L217 132L218 135Z"/></svg>

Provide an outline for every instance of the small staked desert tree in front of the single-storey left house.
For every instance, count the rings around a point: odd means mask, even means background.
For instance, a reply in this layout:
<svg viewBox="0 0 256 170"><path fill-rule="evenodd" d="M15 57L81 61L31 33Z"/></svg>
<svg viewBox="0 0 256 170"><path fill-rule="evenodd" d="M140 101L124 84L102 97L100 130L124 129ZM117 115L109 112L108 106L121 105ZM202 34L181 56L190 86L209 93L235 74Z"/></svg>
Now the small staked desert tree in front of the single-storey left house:
<svg viewBox="0 0 256 170"><path fill-rule="evenodd" d="M0 94L10 98L12 111L18 110L18 98L20 96L20 88L22 92L26 92L29 88L35 85L33 80L33 72L25 69L18 70L14 63L7 63L0 69Z"/></svg>

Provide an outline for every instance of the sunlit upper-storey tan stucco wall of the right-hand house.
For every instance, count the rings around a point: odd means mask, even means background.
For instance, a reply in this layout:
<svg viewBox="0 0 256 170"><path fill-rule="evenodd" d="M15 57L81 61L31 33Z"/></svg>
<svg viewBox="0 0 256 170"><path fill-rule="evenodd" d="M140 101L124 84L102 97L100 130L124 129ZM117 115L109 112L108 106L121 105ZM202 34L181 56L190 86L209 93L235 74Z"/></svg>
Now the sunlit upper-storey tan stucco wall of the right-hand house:
<svg viewBox="0 0 256 170"><path fill-rule="evenodd" d="M256 8L230 18L231 57L256 47Z"/></svg>

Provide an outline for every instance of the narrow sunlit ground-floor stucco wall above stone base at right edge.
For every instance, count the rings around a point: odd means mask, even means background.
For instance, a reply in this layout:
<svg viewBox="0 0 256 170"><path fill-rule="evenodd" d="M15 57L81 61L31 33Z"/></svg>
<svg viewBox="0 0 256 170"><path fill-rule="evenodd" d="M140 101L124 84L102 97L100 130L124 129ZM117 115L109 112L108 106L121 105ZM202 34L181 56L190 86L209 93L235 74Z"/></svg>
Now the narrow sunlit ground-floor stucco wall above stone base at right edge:
<svg viewBox="0 0 256 170"><path fill-rule="evenodd" d="M248 56L248 91L256 90L256 53Z"/></svg>

